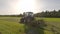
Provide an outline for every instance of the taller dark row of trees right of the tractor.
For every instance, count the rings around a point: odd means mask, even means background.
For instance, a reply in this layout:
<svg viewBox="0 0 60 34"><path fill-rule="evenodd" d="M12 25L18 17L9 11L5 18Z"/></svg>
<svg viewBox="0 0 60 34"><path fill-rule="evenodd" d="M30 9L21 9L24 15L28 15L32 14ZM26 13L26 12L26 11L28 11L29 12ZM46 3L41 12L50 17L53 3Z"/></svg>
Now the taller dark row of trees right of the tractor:
<svg viewBox="0 0 60 34"><path fill-rule="evenodd" d="M53 11L43 11L43 12L40 12L40 13L36 13L35 14L36 17L55 17L55 18L60 18L60 10L56 11L56 10L53 10Z"/></svg>

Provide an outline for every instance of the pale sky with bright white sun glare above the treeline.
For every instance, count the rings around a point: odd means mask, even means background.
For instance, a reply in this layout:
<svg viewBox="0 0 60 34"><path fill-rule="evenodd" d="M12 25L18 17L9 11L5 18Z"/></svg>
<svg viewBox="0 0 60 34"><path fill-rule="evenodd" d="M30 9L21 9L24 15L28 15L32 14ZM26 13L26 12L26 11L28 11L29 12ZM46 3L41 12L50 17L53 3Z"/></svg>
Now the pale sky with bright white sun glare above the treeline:
<svg viewBox="0 0 60 34"><path fill-rule="evenodd" d="M0 0L0 15L59 10L60 0Z"/></svg>

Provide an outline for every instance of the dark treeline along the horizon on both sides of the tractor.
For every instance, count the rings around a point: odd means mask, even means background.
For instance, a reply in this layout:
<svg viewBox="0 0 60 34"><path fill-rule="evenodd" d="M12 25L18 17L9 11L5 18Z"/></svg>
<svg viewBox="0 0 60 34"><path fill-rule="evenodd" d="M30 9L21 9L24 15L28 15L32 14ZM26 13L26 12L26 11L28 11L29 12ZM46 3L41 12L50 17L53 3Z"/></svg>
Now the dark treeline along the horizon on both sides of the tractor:
<svg viewBox="0 0 60 34"><path fill-rule="evenodd" d="M19 15L0 15L0 17L22 17L23 14L19 14ZM55 18L60 18L60 10L56 11L42 11L40 13L36 13L34 14L35 17L55 17Z"/></svg>

